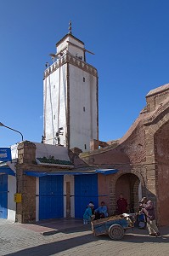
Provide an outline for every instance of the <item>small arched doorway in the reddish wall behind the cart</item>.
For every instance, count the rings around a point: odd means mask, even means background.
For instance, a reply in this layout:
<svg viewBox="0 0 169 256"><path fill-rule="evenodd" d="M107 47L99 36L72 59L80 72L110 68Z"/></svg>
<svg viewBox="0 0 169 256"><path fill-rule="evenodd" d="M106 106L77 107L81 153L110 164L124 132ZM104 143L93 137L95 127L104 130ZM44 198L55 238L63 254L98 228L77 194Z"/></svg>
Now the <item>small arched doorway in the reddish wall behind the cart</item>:
<svg viewBox="0 0 169 256"><path fill-rule="evenodd" d="M138 201L142 197L141 183L139 178L132 174L126 173L118 177L115 183L115 200L123 194L127 199L128 212L138 212Z"/></svg>

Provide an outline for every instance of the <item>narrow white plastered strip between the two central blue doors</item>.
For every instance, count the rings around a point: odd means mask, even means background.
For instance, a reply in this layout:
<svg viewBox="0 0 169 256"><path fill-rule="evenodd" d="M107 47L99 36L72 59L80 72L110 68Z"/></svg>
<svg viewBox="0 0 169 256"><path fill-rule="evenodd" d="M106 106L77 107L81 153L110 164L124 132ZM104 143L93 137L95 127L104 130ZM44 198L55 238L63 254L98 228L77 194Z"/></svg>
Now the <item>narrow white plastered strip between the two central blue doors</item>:
<svg viewBox="0 0 169 256"><path fill-rule="evenodd" d="M75 218L75 189L73 175L64 175L64 218L66 218L66 182L70 182L70 217Z"/></svg>

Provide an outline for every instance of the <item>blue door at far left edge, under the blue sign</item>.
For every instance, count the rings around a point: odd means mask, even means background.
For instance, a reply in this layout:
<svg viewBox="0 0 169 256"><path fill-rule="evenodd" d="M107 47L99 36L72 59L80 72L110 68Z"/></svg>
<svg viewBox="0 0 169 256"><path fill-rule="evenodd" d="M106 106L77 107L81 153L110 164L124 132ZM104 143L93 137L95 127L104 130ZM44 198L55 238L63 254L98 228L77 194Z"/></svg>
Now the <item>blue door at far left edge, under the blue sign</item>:
<svg viewBox="0 0 169 256"><path fill-rule="evenodd" d="M8 175L0 175L0 218L8 216Z"/></svg>

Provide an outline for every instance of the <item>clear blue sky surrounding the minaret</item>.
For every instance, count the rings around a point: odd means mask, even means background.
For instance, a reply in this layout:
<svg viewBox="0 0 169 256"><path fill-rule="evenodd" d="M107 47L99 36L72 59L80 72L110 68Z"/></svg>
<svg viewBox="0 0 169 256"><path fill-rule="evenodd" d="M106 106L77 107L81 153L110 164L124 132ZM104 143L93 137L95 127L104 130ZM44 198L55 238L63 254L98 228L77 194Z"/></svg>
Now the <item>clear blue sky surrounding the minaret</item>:
<svg viewBox="0 0 169 256"><path fill-rule="evenodd" d="M99 139L122 137L145 96L169 83L168 0L0 0L0 122L41 142L42 77L48 54L68 32L95 55L99 71ZM0 127L0 147L20 141Z"/></svg>

